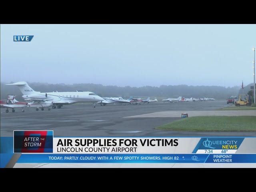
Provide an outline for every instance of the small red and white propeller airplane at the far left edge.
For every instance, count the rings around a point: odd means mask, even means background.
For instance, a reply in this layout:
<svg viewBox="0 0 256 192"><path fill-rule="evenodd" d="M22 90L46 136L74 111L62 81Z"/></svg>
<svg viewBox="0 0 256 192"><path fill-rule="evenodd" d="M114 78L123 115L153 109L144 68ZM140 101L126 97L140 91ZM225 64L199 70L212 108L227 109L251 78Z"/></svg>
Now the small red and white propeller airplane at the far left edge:
<svg viewBox="0 0 256 192"><path fill-rule="evenodd" d="M6 100L1 100L0 101L0 106L1 108L6 108L5 112L8 113L8 109L12 109L12 112L15 112L15 108L22 108L22 112L25 110L23 109L24 107L29 106L28 103L26 102L18 102L15 98L14 95L8 95L8 98Z"/></svg>

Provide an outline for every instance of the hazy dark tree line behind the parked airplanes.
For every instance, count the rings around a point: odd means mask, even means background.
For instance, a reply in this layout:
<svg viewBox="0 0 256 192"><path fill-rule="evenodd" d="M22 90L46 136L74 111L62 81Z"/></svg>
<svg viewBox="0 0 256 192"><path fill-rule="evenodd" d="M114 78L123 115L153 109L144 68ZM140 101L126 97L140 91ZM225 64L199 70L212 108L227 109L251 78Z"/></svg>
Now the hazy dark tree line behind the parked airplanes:
<svg viewBox="0 0 256 192"><path fill-rule="evenodd" d="M14 83L14 82L8 82ZM8 86L7 83L1 82L1 100L6 99L8 94L16 95L17 100L22 99L22 93L17 86ZM103 86L102 84L49 84L40 82L28 82L28 85L35 91L40 92L69 92L69 91L90 91L101 97L166 97L178 98L179 96L185 98L214 98L226 99L230 96L238 96L242 92L240 86L223 87L223 86L188 86L188 85L161 85L156 86ZM244 86L244 94L250 90L249 84Z"/></svg>

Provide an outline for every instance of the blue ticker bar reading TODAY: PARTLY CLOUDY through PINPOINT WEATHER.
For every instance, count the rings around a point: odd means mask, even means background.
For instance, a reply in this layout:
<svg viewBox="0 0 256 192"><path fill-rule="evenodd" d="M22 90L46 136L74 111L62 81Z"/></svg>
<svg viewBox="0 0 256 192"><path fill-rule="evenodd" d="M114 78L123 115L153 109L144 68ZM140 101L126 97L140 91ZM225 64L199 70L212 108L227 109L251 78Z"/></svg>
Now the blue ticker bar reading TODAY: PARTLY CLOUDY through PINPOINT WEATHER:
<svg viewBox="0 0 256 192"><path fill-rule="evenodd" d="M256 163L256 154L22 154L17 163Z"/></svg>

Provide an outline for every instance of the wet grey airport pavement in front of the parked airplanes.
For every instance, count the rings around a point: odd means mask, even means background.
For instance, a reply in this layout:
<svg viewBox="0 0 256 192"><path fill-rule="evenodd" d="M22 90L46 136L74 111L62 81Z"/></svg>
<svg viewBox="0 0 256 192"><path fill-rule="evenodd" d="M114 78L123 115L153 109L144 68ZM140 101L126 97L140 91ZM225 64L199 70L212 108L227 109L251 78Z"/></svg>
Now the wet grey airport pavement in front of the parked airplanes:
<svg viewBox="0 0 256 192"><path fill-rule="evenodd" d="M13 130L53 130L54 136L132 137L132 136L256 136L256 132L177 132L155 130L156 126L188 116L254 115L256 110L216 111L230 106L226 100L207 102L156 102L140 105L73 104L50 111L34 108L15 109L5 113L1 109L1 136L13 136Z"/></svg>

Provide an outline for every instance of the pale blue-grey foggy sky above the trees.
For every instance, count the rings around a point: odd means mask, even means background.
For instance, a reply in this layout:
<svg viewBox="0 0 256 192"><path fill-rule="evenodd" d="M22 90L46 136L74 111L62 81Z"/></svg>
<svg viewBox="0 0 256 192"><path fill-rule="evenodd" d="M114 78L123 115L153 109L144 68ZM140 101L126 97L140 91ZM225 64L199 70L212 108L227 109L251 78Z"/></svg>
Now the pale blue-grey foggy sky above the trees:
<svg viewBox="0 0 256 192"><path fill-rule="evenodd" d="M255 24L1 24L0 80L246 86L255 32Z"/></svg>

